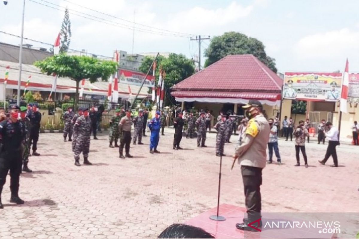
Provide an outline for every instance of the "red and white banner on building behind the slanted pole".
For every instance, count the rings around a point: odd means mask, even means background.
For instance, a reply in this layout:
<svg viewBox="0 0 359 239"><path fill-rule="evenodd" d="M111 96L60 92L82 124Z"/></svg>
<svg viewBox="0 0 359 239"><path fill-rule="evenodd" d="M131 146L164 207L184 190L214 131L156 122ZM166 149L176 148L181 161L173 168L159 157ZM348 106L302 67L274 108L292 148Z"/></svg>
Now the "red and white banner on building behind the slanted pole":
<svg viewBox="0 0 359 239"><path fill-rule="evenodd" d="M145 83L143 84L144 87L153 88L155 86L154 76L148 75L147 78L145 79L146 74L142 72L130 71L124 69L120 69L118 71L119 71L118 75L120 76L120 84L141 86L143 81L145 81Z"/></svg>

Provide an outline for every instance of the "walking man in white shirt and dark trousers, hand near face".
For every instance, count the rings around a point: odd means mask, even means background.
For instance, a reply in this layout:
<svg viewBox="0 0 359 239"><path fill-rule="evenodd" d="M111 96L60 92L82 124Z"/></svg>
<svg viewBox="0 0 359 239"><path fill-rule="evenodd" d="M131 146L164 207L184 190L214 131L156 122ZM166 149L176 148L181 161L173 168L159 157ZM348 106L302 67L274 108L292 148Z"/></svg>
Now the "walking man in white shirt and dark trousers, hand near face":
<svg viewBox="0 0 359 239"><path fill-rule="evenodd" d="M328 127L329 131L325 134L325 136L329 139L327 152L322 161L319 161L321 164L325 164L330 156L333 157L334 164L330 167L338 167L338 157L336 154L336 147L339 145L339 131L333 126L331 122L327 122L325 126Z"/></svg>

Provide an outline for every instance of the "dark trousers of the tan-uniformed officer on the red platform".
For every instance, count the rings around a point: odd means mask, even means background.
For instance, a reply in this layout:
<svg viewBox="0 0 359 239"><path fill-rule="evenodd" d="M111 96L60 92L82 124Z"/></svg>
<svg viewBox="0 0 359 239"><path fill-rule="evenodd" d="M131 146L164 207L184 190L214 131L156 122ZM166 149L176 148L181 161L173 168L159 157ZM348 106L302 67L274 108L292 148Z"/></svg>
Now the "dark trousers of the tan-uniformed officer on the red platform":
<svg viewBox="0 0 359 239"><path fill-rule="evenodd" d="M244 196L246 197L247 216L250 221L261 218L262 168L242 166Z"/></svg>

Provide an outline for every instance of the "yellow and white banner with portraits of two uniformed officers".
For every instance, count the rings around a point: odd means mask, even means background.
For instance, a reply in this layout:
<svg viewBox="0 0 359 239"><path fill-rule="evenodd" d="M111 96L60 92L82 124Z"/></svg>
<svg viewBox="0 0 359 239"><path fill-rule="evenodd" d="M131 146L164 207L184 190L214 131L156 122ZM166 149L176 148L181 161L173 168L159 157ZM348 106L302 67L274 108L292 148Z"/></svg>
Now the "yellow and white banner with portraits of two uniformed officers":
<svg viewBox="0 0 359 239"><path fill-rule="evenodd" d="M339 101L342 73L286 72L283 99Z"/></svg>

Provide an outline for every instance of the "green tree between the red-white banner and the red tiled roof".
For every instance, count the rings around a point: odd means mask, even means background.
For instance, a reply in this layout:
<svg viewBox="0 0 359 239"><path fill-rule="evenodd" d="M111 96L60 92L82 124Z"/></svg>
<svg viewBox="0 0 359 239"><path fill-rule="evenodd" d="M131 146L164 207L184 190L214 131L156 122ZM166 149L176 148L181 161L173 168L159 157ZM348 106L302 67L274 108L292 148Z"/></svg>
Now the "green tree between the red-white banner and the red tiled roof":
<svg viewBox="0 0 359 239"><path fill-rule="evenodd" d="M141 72L147 73L148 68L151 66L153 60L154 57L145 57L139 70ZM168 89L171 88L173 85L185 80L187 77L193 75L195 73L195 64L191 59L188 59L183 54L171 53L169 54L168 58L159 56L157 58L155 72L156 84L158 83L159 72L161 68L166 73L164 79L164 88L166 90L166 99L168 100L165 101L167 103L169 103L169 101L174 102L172 96L169 95ZM150 74L153 74L152 69L150 71Z"/></svg>

